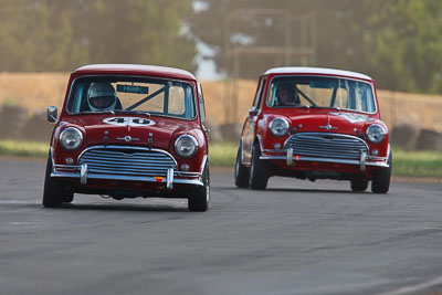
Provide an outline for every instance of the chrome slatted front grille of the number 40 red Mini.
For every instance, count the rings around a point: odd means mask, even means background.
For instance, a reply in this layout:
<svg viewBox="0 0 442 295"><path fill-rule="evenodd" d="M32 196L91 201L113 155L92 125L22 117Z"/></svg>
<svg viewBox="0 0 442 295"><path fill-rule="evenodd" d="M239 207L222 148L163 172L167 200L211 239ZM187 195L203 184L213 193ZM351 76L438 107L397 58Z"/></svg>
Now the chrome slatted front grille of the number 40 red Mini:
<svg viewBox="0 0 442 295"><path fill-rule="evenodd" d="M88 173L119 176L167 176L167 169L177 169L175 159L158 149L106 147L86 150L80 162L87 164Z"/></svg>

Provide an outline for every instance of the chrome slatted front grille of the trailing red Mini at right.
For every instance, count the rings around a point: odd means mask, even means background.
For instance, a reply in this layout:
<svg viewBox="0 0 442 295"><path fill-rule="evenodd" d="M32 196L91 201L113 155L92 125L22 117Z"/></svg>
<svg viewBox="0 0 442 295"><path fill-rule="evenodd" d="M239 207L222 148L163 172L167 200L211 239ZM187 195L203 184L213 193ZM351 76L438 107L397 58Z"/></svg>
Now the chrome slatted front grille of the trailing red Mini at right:
<svg viewBox="0 0 442 295"><path fill-rule="evenodd" d="M362 151L368 154L367 144L362 139L340 134L295 134L286 140L284 147L293 148L294 155L334 159L359 160Z"/></svg>

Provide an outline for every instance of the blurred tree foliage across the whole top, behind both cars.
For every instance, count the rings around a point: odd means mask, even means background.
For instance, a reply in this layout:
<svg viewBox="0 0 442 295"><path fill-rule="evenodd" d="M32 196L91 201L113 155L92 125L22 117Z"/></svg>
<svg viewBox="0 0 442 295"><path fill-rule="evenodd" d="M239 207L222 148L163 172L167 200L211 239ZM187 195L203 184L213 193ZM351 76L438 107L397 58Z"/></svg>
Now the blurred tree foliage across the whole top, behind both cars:
<svg viewBox="0 0 442 295"><path fill-rule="evenodd" d="M316 57L309 65L362 72L380 88L442 93L441 0L0 0L0 7L3 72L69 72L87 63L193 72L197 45L206 43L218 71L229 76L228 14L265 8L315 15ZM236 25L228 39L240 36L244 46L281 43L280 22L270 17L264 23ZM282 65L276 57L242 57L244 78Z"/></svg>

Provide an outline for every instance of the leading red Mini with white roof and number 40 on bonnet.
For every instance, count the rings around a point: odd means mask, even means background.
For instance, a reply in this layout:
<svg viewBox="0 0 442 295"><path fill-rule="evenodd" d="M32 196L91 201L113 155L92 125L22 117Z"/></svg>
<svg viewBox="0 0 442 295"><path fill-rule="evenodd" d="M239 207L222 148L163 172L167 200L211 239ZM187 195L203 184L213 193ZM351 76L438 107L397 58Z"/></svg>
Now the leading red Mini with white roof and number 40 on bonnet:
<svg viewBox="0 0 442 295"><path fill-rule="evenodd" d="M188 199L206 211L210 181L201 85L182 70L103 64L71 74L48 158L44 207L74 193Z"/></svg>

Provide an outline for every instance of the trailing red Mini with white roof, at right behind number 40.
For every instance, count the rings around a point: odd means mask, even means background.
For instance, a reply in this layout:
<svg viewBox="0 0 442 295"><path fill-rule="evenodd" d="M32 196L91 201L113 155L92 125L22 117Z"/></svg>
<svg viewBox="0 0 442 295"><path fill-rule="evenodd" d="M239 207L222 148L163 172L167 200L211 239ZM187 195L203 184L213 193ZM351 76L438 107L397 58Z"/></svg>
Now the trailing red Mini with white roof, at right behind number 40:
<svg viewBox="0 0 442 295"><path fill-rule="evenodd" d="M277 67L259 81L245 119L235 185L265 189L272 176L349 180L387 193L388 129L371 77L341 70Z"/></svg>

